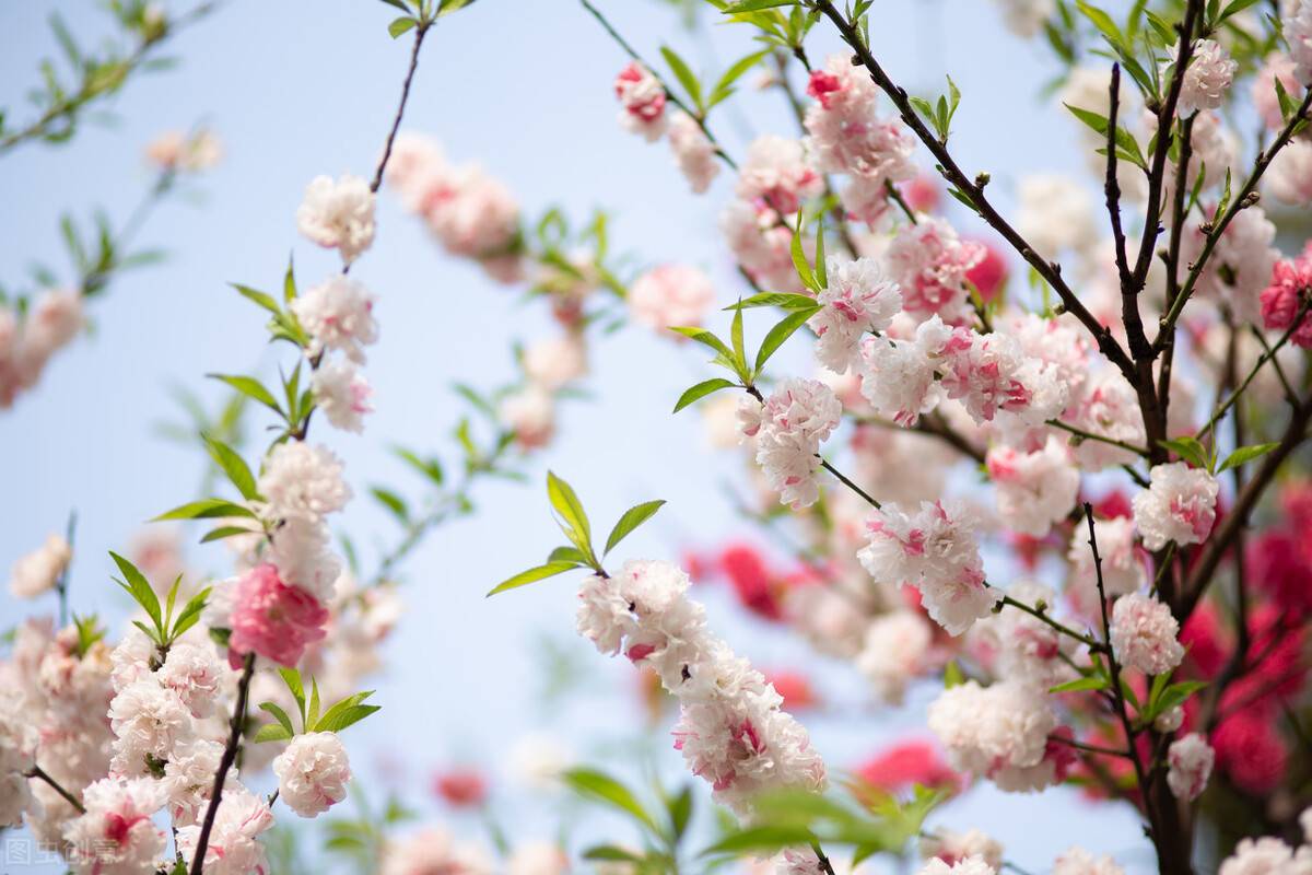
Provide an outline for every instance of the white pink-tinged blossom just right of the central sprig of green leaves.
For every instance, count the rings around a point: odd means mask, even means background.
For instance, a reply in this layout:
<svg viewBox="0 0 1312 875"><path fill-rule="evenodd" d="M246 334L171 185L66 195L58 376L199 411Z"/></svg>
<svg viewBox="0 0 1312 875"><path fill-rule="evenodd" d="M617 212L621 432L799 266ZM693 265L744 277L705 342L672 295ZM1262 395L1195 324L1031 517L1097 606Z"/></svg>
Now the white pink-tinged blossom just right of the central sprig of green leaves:
<svg viewBox="0 0 1312 875"><path fill-rule="evenodd" d="M886 331L901 310L901 293L884 278L874 258L841 261L830 256L825 277L825 289L816 296L821 308L807 324L820 338L816 342L820 363L845 374L861 338L867 332Z"/></svg>

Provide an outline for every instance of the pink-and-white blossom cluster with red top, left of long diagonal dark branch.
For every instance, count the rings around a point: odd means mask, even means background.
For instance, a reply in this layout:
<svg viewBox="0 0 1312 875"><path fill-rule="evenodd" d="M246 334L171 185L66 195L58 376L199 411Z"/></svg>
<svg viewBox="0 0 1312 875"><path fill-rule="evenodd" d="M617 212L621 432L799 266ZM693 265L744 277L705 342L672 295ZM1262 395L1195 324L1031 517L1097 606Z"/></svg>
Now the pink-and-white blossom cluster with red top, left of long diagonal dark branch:
<svg viewBox="0 0 1312 875"><path fill-rule="evenodd" d="M811 72L807 93L807 150L820 171L849 173L883 188L916 174L911 156L916 140L897 119L875 114L879 91L846 55L833 55ZM791 211L791 210L790 210Z"/></svg>

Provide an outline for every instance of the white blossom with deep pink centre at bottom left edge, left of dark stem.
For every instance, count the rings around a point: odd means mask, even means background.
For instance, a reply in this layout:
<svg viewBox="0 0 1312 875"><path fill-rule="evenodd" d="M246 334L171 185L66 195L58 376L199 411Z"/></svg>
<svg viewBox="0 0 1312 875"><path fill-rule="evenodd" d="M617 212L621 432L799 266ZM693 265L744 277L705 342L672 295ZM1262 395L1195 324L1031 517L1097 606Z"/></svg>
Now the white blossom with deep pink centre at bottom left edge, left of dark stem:
<svg viewBox="0 0 1312 875"><path fill-rule="evenodd" d="M68 863L79 874L139 875L155 871L164 830L151 823L164 790L151 778L101 778L83 794L87 809L64 826Z"/></svg>

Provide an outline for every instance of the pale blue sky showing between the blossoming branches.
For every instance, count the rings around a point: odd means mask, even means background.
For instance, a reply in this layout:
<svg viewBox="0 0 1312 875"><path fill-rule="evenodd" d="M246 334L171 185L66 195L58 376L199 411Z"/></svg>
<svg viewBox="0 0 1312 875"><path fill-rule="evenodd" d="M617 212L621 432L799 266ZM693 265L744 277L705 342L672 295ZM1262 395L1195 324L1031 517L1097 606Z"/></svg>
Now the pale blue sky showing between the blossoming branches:
<svg viewBox="0 0 1312 875"><path fill-rule="evenodd" d="M694 67L719 71L752 49L735 29L703 22L689 31L653 0L598 5L648 58L669 43ZM39 60L55 51L45 22L55 9L88 39L105 31L105 16L91 1L0 4L0 106L12 122L29 117L25 92ZM1055 72L1050 58L1042 46L1004 33L992 4L888 0L876 9L876 54L911 91L937 93L949 63L963 92L954 151L966 168L992 173L991 193L1002 206L1019 173L1076 169L1075 126L1038 102ZM110 622L123 617L108 551L126 547L143 521L195 497L205 470L198 443L159 433L161 421L180 418L173 391L185 387L216 403L220 392L206 373L274 373L261 315L227 283L274 287L289 253L303 283L336 269L333 253L298 237L294 213L315 174L371 172L408 52L404 39L387 35L392 16L375 0L231 0L171 41L177 66L131 81L112 102L112 119L85 123L70 144L29 144L0 159L0 282L14 286L33 262L70 278L58 235L63 211L85 216L102 207L123 220L150 184L142 150L157 132L205 123L226 151L223 163L190 186L192 195L165 203L144 226L140 244L165 249L167 260L121 277L91 307L93 333L60 353L41 386L0 413L0 495L12 509L0 527L0 567L60 530L76 509L75 609ZM812 55L834 47L819 28ZM664 144L648 146L619 129L610 83L625 60L573 0L480 0L432 33L404 129L437 136L454 160L482 163L516 192L526 216L560 205L583 222L593 207L607 209L611 245L631 253L631 264L702 266L716 278L720 299L732 300L741 289L715 231L732 182L722 174L707 195L691 195ZM712 119L737 153L753 130L794 132L775 96L749 91ZM463 413L451 383L502 382L512 374L510 344L554 329L541 307L445 256L386 190L377 243L352 275L379 298L382 338L367 367L378 412L362 437L318 437L346 460L357 495L377 483L420 495L388 447L451 460L450 433ZM408 610L374 698L383 712L348 740L369 786L394 787L426 815L437 809L426 802L422 775L471 762L497 775L499 803L525 837L556 834L556 800L501 779L506 752L527 731L634 774L617 753L643 731L630 672L573 636L575 581L483 597L559 540L542 488L547 467L576 487L596 518L615 518L648 499L669 501L626 542L626 556L677 559L685 548L748 534L723 489L737 458L707 451L695 416L669 416L682 388L705 379L701 359L628 328L598 342L590 363L589 397L564 409L558 441L529 466L530 483L480 485L476 514L436 531L403 569ZM365 499L341 523L366 561L373 547L395 539ZM203 572L227 571L218 546L193 546L189 559ZM716 628L753 661L816 662L799 641L743 618L719 593L705 597ZM0 594L0 626L29 610ZM543 676L558 649L583 672L583 691L544 703ZM833 704L807 724L838 767L890 740L924 735L930 691L887 712L867 704L850 668L821 665L819 678ZM664 729L644 749L653 767L676 779L681 761ZM983 828L1034 872L1075 842L1148 871L1134 817L1092 808L1073 791L1005 796L981 787L932 823Z"/></svg>

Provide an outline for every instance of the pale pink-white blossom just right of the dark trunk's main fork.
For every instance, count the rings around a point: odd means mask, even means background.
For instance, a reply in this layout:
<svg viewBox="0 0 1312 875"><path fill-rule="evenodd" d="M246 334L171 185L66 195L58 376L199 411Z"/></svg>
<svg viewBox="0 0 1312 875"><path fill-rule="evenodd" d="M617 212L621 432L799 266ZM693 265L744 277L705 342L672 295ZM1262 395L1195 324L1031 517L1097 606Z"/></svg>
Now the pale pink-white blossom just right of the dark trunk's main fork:
<svg viewBox="0 0 1312 875"><path fill-rule="evenodd" d="M1135 525L1144 547L1161 550L1168 542L1202 543L1216 521L1216 478L1185 462L1157 464L1151 485L1134 497Z"/></svg>

